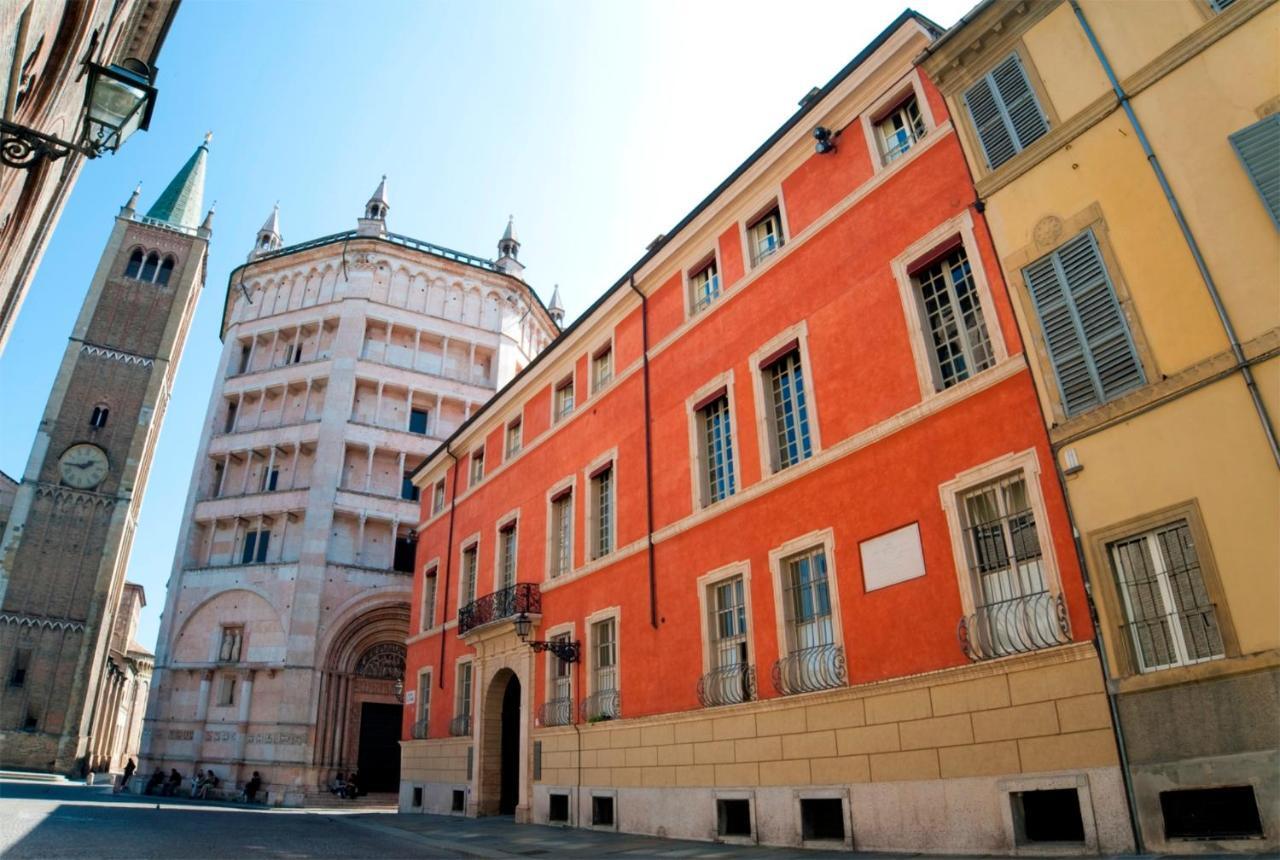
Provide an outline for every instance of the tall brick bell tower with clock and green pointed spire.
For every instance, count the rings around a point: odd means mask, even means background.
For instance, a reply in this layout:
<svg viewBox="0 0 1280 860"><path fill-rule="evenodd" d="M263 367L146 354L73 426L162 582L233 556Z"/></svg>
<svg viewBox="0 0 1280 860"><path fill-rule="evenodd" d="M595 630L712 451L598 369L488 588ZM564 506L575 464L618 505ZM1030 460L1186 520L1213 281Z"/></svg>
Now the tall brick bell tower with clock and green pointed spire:
<svg viewBox="0 0 1280 860"><path fill-rule="evenodd" d="M108 648L205 282L209 141L146 215L137 189L120 210L49 395L0 544L0 767L78 776L115 719Z"/></svg>

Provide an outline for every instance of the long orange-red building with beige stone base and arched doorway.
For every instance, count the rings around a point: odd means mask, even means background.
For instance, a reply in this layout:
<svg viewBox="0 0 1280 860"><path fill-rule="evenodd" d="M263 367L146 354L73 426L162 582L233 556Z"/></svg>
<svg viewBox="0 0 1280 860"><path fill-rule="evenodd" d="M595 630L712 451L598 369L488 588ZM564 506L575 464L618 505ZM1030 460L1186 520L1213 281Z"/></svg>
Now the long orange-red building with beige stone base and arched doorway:
<svg viewBox="0 0 1280 860"><path fill-rule="evenodd" d="M904 13L416 470L402 811L1132 845L1024 348L914 65L938 32Z"/></svg>

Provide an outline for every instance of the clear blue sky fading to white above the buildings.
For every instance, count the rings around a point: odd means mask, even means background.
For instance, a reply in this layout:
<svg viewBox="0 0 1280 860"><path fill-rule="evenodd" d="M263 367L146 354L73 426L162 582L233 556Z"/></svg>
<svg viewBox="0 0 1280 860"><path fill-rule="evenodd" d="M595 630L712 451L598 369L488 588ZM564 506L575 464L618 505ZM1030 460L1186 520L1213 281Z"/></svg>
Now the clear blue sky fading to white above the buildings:
<svg viewBox="0 0 1280 860"><path fill-rule="evenodd" d="M952 24L973 0L920 0ZM389 227L495 255L575 317L902 6L890 0L183 0L151 131L86 165L0 357L0 468L20 477L111 218L150 206L205 131L209 279L128 578L152 646L218 362L230 270L280 201L285 243L351 229L380 174Z"/></svg>

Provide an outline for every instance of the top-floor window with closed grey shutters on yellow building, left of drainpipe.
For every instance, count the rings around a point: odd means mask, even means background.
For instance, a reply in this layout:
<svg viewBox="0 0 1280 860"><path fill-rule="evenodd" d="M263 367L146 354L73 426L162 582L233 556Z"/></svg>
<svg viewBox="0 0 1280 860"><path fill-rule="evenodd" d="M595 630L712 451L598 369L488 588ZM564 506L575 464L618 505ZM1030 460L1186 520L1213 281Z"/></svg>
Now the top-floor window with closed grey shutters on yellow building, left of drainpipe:
<svg viewBox="0 0 1280 860"><path fill-rule="evenodd" d="M1048 132L1048 118L1016 54L969 87L964 104L992 170Z"/></svg>

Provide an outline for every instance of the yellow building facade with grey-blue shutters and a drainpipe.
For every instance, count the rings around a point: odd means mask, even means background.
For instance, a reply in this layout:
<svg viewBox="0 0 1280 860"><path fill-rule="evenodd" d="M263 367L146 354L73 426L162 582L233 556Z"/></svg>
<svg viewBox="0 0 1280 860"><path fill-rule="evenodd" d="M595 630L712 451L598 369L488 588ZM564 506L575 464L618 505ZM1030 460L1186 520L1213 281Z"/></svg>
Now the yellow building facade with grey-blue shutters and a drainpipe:
<svg viewBox="0 0 1280 860"><path fill-rule="evenodd" d="M1280 847L1280 8L993 0L947 99L1151 851Z"/></svg>

